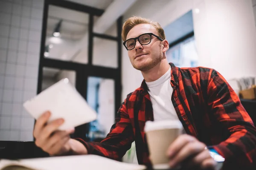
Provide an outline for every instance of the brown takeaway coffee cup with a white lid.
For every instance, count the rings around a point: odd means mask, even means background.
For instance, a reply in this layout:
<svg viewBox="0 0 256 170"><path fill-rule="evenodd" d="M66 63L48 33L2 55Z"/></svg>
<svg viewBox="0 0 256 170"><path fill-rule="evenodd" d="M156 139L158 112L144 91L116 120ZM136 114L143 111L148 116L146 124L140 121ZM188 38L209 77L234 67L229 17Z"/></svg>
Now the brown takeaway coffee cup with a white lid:
<svg viewBox="0 0 256 170"><path fill-rule="evenodd" d="M180 121L147 121L145 133L150 160L154 169L169 169L166 152L170 144L182 133Z"/></svg>

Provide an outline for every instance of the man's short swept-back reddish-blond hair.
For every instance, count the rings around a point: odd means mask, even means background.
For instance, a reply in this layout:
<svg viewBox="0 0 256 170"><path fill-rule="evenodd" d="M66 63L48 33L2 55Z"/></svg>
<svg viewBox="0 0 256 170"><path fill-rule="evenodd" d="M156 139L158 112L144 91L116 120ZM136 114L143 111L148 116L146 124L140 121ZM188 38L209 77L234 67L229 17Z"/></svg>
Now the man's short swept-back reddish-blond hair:
<svg viewBox="0 0 256 170"><path fill-rule="evenodd" d="M123 24L122 27L122 40L125 41L128 32L131 30L131 28L133 28L134 26L138 25L138 24L151 24L152 26L154 26L154 28L156 28L157 32L158 32L158 36L161 37L163 40L165 40L165 34L163 31L163 28L160 26L159 23L148 20L146 18L143 17L130 17L128 18L125 23Z"/></svg>

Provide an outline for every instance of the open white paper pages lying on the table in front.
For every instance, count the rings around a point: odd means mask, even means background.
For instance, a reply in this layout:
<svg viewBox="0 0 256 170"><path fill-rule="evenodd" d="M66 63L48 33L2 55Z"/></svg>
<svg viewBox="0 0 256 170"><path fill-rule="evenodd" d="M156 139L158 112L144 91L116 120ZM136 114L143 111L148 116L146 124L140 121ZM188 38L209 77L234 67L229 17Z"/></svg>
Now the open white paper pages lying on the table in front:
<svg viewBox="0 0 256 170"><path fill-rule="evenodd" d="M144 165L128 164L96 155L55 156L48 158L1 160L0 169L11 165L30 170L145 170Z"/></svg>

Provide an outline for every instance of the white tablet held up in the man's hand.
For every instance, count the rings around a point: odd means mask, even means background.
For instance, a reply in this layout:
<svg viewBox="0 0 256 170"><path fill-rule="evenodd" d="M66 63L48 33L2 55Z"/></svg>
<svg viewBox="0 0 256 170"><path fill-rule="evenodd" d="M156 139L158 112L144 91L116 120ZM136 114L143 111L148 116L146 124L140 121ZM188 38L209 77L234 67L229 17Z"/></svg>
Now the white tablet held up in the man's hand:
<svg viewBox="0 0 256 170"><path fill-rule="evenodd" d="M49 122L63 118L64 123L59 130L67 130L97 118L96 111L90 108L67 78L61 79L29 99L23 106L35 119L38 119L45 111L51 112Z"/></svg>

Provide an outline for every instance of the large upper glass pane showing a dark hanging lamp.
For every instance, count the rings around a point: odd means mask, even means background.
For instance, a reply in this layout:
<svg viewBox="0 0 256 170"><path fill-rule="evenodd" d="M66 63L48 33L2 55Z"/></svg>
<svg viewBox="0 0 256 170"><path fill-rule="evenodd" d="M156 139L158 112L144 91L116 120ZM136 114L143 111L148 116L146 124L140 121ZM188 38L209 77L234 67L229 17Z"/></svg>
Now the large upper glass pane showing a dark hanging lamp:
<svg viewBox="0 0 256 170"><path fill-rule="evenodd" d="M87 13L49 5L44 57L86 64L88 24Z"/></svg>

